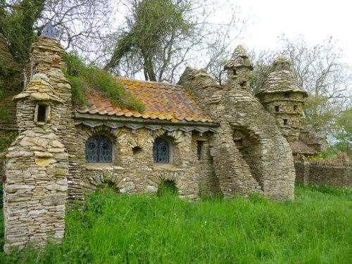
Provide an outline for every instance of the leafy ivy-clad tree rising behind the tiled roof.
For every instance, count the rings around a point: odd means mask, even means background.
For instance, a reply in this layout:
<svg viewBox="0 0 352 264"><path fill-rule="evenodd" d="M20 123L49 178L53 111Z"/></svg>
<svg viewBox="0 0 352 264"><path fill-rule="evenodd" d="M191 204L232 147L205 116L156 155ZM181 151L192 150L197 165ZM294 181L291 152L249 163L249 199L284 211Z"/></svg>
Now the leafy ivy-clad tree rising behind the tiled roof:
<svg viewBox="0 0 352 264"><path fill-rule="evenodd" d="M141 0L130 6L126 26L118 32L111 61L106 70L118 71L122 58L128 70L144 70L146 80L163 81L165 73L179 63L191 41L195 23L192 1ZM131 69L132 67L132 69ZM169 73L170 74L170 73ZM172 73L173 74L173 73Z"/></svg>

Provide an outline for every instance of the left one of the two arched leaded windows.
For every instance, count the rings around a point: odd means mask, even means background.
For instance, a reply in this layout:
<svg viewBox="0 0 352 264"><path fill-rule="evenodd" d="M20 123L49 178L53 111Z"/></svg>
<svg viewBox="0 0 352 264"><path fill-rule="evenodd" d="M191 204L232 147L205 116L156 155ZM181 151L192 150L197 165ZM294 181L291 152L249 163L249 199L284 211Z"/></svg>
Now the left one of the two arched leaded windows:
<svg viewBox="0 0 352 264"><path fill-rule="evenodd" d="M101 134L89 137L86 142L86 161L111 163L113 144Z"/></svg>

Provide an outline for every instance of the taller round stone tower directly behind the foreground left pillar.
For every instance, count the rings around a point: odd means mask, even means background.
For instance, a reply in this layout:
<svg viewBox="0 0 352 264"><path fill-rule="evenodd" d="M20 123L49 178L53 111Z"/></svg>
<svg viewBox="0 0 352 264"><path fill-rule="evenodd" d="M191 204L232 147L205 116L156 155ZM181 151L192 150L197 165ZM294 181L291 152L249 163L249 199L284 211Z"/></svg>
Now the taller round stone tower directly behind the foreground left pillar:
<svg viewBox="0 0 352 264"><path fill-rule="evenodd" d="M65 68L65 62L60 56L65 54L58 40L51 37L37 37L32 44L30 58L30 73L44 73L49 77L51 87L56 95L62 100L60 115L57 119L56 134L65 146L69 154L68 166L68 201L83 201L82 189L80 187L80 171L77 168L77 140L75 135L75 121L72 113L72 91L70 80L68 80L61 68ZM53 57L58 56L56 67L52 67ZM55 120L56 121L56 120Z"/></svg>

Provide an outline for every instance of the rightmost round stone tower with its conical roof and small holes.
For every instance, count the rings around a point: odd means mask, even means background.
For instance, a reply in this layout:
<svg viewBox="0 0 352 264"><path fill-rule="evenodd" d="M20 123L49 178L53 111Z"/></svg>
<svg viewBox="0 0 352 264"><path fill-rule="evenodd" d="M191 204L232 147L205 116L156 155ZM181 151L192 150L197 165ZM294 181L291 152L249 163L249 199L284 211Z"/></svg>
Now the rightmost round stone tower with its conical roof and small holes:
<svg viewBox="0 0 352 264"><path fill-rule="evenodd" d="M301 132L303 99L308 96L298 84L287 58L278 56L263 87L256 94L264 108L275 116L282 134L292 144Z"/></svg>

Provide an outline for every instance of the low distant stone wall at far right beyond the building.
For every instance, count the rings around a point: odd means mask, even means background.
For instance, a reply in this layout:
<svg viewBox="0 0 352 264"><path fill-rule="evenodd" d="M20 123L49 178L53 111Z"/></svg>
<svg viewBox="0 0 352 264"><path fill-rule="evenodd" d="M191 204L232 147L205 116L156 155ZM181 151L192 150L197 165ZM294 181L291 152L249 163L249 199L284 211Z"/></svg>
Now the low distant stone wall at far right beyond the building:
<svg viewBox="0 0 352 264"><path fill-rule="evenodd" d="M339 188L352 187L351 162L295 161L296 182Z"/></svg>

